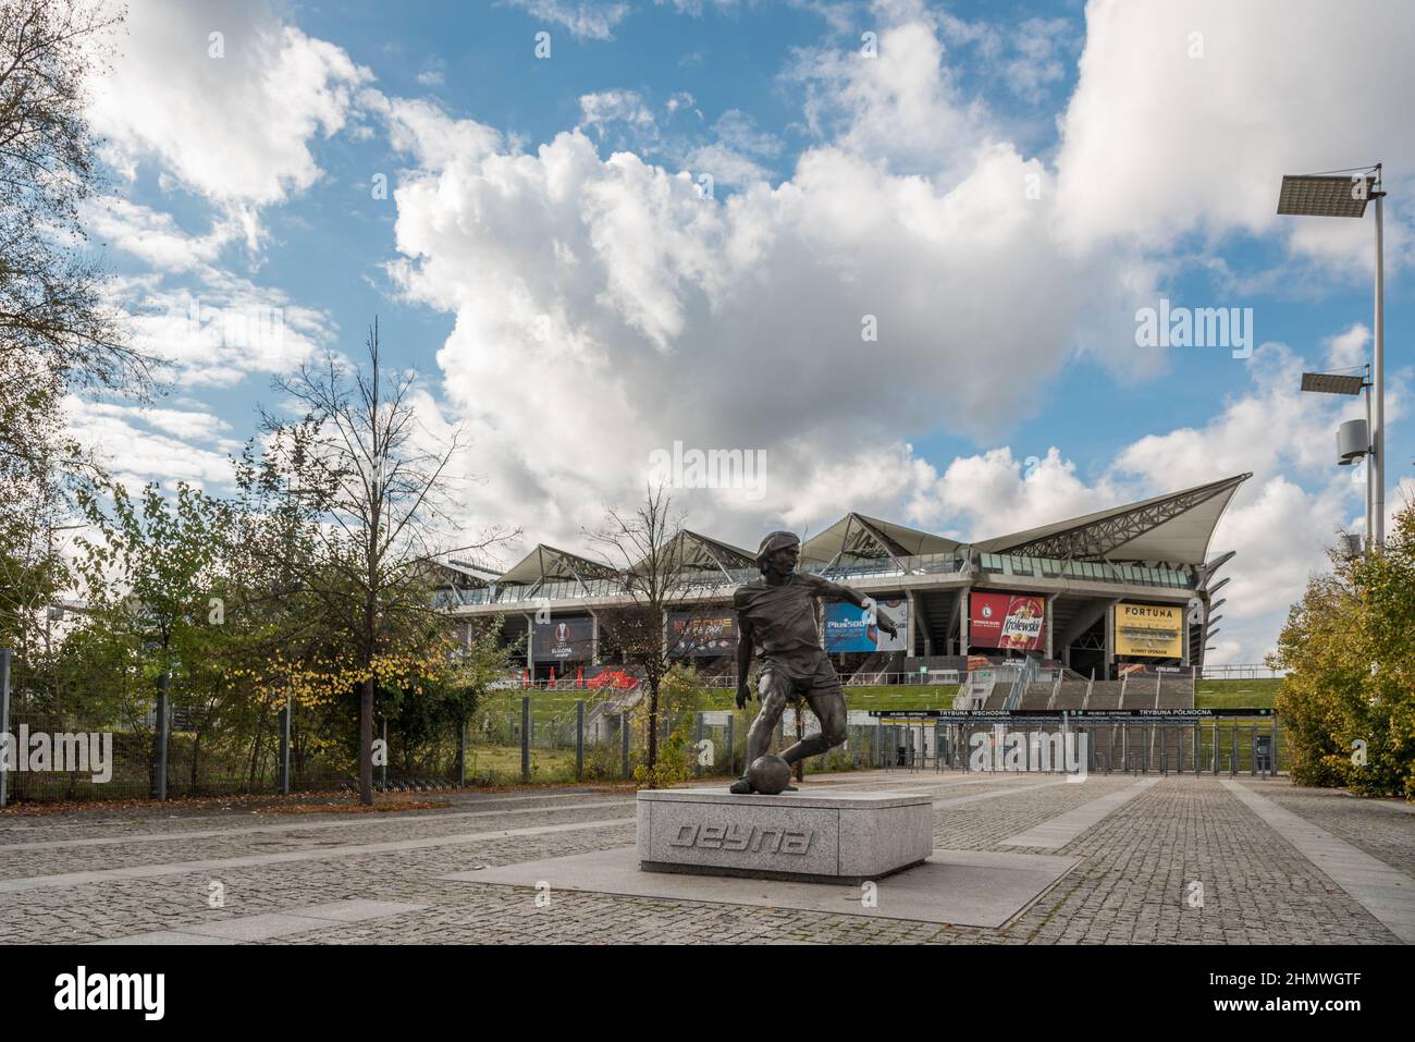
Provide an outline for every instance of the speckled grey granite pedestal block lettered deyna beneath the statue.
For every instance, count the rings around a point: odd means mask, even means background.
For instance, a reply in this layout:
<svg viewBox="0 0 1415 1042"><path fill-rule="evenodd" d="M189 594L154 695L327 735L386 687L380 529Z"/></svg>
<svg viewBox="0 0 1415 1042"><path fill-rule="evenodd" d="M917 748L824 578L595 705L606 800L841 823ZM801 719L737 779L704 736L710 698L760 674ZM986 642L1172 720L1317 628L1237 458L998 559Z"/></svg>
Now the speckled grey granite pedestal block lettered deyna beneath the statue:
<svg viewBox="0 0 1415 1042"><path fill-rule="evenodd" d="M649 872L859 885L932 852L934 801L925 794L638 794L638 862Z"/></svg>

